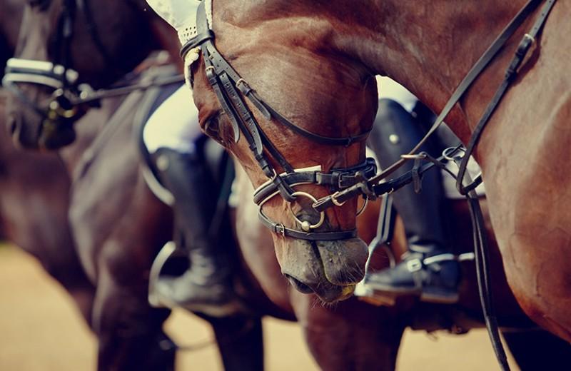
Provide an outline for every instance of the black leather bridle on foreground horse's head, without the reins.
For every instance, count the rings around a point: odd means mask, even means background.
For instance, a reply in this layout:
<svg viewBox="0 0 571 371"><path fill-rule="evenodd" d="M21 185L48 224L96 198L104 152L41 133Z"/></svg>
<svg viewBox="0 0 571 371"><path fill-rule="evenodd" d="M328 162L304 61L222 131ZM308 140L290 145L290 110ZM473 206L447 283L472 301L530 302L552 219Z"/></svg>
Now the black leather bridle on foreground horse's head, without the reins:
<svg viewBox="0 0 571 371"><path fill-rule="evenodd" d="M268 121L274 118L283 126L291 131L298 133L304 138L308 138L315 143L328 146L350 146L353 143L364 141L368 132L361 133L358 136L350 136L346 138L332 138L328 136L320 136L304 128L300 128L287 118L278 113L268 103L262 100L258 93L251 88L248 83L232 68L230 63L223 58L214 46L214 33L208 26L206 16L206 1L201 1L196 14L196 31L197 36L188 41L181 49L181 56L185 56L188 51L200 46L203 59L206 63L206 77L212 86L218 101L221 103L223 111L230 118L233 132L234 142L238 142L241 135L246 138L248 146L256 159L258 166L268 178L254 193L254 202L260 206L258 216L266 227L273 232L283 235L284 237L297 238L301 240L342 240L353 238L357 235L357 231L353 230L334 230L317 232L325 220L324 210L315 211L312 208L311 213L319 215L316 223L311 223L307 216L295 215L293 218L300 226L300 230L285 227L283 223L276 223L262 211L262 206L268 200L276 195L289 203L291 211L291 203L298 198L307 198L311 203L317 202L317 199L309 193L295 191L293 187L301 184L316 184L328 187L331 193L338 192L349 188L357 183L371 178L375 175L377 168L372 158L366 159L364 163L350 168L334 169L329 172L319 170L294 170L293 166L273 145L266 133L262 130L253 113L250 111L243 96L255 106L264 118ZM270 157L283 168L283 173L278 173L272 165ZM343 205L338 203L338 206ZM302 220L303 219L303 220Z"/></svg>

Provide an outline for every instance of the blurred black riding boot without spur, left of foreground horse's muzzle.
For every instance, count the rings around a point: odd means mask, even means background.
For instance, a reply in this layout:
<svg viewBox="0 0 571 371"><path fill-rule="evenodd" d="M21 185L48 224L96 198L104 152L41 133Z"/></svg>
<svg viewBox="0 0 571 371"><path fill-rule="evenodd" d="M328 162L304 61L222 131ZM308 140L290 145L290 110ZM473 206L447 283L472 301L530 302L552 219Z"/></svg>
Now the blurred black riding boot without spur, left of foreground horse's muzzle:
<svg viewBox="0 0 571 371"><path fill-rule="evenodd" d="M197 153L159 148L155 153L161 181L171 191L177 249L186 250L190 268L176 278L161 278L156 295L164 305L183 307L221 317L237 312L239 305L231 284L232 264L224 233L208 231L213 219L217 187Z"/></svg>

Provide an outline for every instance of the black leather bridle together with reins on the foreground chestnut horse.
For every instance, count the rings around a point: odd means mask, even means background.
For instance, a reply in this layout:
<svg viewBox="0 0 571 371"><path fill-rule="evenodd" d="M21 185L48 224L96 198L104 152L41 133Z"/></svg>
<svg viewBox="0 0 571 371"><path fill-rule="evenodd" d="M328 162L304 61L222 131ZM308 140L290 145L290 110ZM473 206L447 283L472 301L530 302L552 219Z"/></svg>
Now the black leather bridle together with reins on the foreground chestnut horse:
<svg viewBox="0 0 571 371"><path fill-rule="evenodd" d="M428 137L436 131L438 126L443 123L446 116L448 116L448 113L452 111L452 108L455 106L455 104L458 103L460 98L463 97L464 93L468 91L468 88L470 88L475 79L480 76L480 73L485 70L490 61L492 61L492 59L495 58L503 46L505 46L507 40L510 39L513 34L515 34L515 31L520 28L522 23L527 19L528 16L530 16L530 14L532 14L533 11L535 11L535 9L537 9L537 6L539 6L543 0L528 1L527 4L525 4L525 6L515 15L512 21L507 24L500 36L495 39L495 41L490 45L485 53L482 54L480 59L478 59L473 68L470 69L463 81L460 82L460 85L458 88L456 88L448 103L445 104L443 111L440 113L438 118L436 118L435 123L430 128L425 138L423 138L423 140L420 141L420 143L418 143L418 145L415 146L415 148L413 148L410 153L403 155L400 161L394 163L393 166L386 168L378 175L372 177L365 176L365 172L360 170L355 170L355 172L353 172L350 169L345 169L345 176L349 176L349 178L351 178L350 183L353 183L353 185L348 185L346 187L341 187L339 185L331 186L332 191L335 191L334 193L325 196L324 198L320 198L319 200L315 200L313 203L313 209L318 211L318 213L320 213L323 218L323 212L326 208L343 205L343 203L345 203L347 200L355 198L358 195L363 195L367 199L374 199L379 195L398 190L399 188L413 181L415 183L420 183L420 178L422 177L422 174L425 173L425 171L435 167L445 168L445 161L455 161L455 163L457 163L459 166L458 176L455 176L457 179L457 188L460 193L465 195L468 199L468 204L470 205L470 214L472 216L476 272L482 311L484 313L487 331L490 335L490 340L492 341L492 346L494 348L497 361L500 364L502 370L510 370L510 367L507 363L507 357L500 340L497 319L494 315L492 306L492 290L490 283L490 268L488 263L489 258L487 256L488 248L487 238L485 234L485 223L482 211L480 209L479 200L475 193L475 188L477 185L482 183L482 177L480 175L477 176L477 178L474 180L468 179L469 177L466 174L466 167L470 159L470 154L473 153L473 150L477 145L477 142L481 136L483 129L485 128L486 123L489 121L492 113L495 111L495 108L500 103L501 98L507 91L510 83L512 83L512 81L514 81L517 77L519 68L529 54L530 47L535 42L537 34L545 24L547 16L550 14L555 1L556 0L547 0L545 2L539 16L537 16L535 24L532 26L532 29L530 29L530 31L527 32L525 36L523 36L522 41L515 51L515 56L513 57L510 65L507 67L504 80L502 81L500 87L497 89L495 96L488 104L485 113L482 115L482 118L480 118L480 121L473 131L466 149L462 148L461 145L455 148L448 148L445 153L443 153L443 156L438 159L430 158L430 156L425 153L417 154L420 146L422 146ZM264 198L266 195L268 195L268 197L273 197L273 195L278 193L285 200L291 202L295 200L296 196L300 195L300 193L296 194L291 188L293 185L297 184L295 181L292 181L297 173L293 171L293 168L291 168L289 163L285 161L285 158L283 158L281 153L278 152L277 148L273 146L273 143L271 143L268 137L263 133L259 124L256 122L256 119L253 118L251 111L249 111L248 106L246 106L246 103L243 101L243 98L238 94L238 91L240 91L243 96L246 96L251 101L251 103L253 103L253 105L258 108L258 110L266 119L271 120L271 118L275 118L278 122L284 124L296 133L300 133L300 135L304 136L305 138L309 138L310 140L316 141L317 143L348 146L355 141L363 140L366 138L368 133L363 133L355 138L324 138L317 136L314 133L305 131L303 128L296 126L294 123L291 123L285 117L281 116L279 113L273 110L273 108L271 108L268 103L265 103L258 96L256 91L253 91L248 83L246 83L246 81L241 78L241 76L216 50L216 47L213 44L213 31L208 28L204 2L205 1L202 1L200 6L198 6L198 12L196 16L198 35L183 46L181 49L181 55L184 56L184 54L186 54L186 52L189 50L194 49L197 46L201 46L201 51L204 57L203 59L206 63L206 76L208 77L208 81L211 83L211 86L213 87L223 110L231 119L235 133L235 141L238 141L240 133L243 133L243 135L246 137L246 140L248 141L248 144L250 145L251 151L254 154L254 158L256 158L256 161L258 161L258 165L262 168L262 171L269 178L269 181L266 182L266 184L261 188L258 188L256 191L256 194L254 195L256 203L261 205L263 204L263 200L268 199ZM283 167L285 174L278 175L278 173L276 173L275 168L271 166L268 158L266 157L266 154L263 151L263 145L266 146L266 151L270 153L271 156L273 156L273 158ZM463 151L463 154L461 154L460 151ZM382 182L396 169L400 168L400 166L403 166L405 161L413 159L415 160L415 166L413 167L412 171L409 171L408 173L405 173L403 176L398 178ZM428 163L420 166L420 161L428 161ZM328 173L321 173L321 175L326 176ZM306 178L304 179L303 183L306 183L305 181L307 181L307 183L317 183L316 175L312 178L311 173L305 172L305 177ZM303 195L305 197L309 196L310 198L313 198L313 196L308 194ZM268 226L268 228L271 228L271 230L277 233L282 233L284 236L316 240L325 239L327 237L330 237L328 239L345 238L344 231L330 233L310 232L312 226L308 225L307 223L305 223L305 225L302 223L302 228L304 229L303 232L285 228L283 224L274 223L269 220L266 215L263 215L261 208L260 218L262 223ZM298 222L299 221L300 220L298 220ZM354 231L347 231L347 235L354 235ZM315 236L315 238L312 238L313 236Z"/></svg>

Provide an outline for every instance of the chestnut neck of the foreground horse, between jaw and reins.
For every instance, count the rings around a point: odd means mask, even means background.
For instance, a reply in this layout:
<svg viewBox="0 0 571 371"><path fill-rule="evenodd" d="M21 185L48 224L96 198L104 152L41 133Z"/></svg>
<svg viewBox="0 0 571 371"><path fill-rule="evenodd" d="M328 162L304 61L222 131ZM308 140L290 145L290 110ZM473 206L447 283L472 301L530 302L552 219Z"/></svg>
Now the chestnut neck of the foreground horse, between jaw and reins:
<svg viewBox="0 0 571 371"><path fill-rule="evenodd" d="M361 12L368 14L361 23L365 31L355 40L353 54L373 73L390 76L440 112L473 63L524 2L368 1ZM495 59L468 98L448 116L446 122L464 142L491 98L488 86L500 81L505 68L500 66L505 66L502 61L509 56L505 53Z"/></svg>

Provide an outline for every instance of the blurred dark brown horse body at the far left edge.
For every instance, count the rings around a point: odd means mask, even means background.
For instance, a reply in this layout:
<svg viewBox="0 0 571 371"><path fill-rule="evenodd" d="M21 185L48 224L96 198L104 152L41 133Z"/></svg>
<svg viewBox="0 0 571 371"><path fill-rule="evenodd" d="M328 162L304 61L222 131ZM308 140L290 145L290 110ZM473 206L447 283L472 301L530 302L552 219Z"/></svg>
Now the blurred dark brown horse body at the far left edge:
<svg viewBox="0 0 571 371"><path fill-rule="evenodd" d="M0 97L0 114L4 111L3 101ZM91 322L95 290L81 267L71 236L66 169L57 156L15 148L6 131L0 131L0 143L4 237L37 258L74 298L84 320Z"/></svg>

